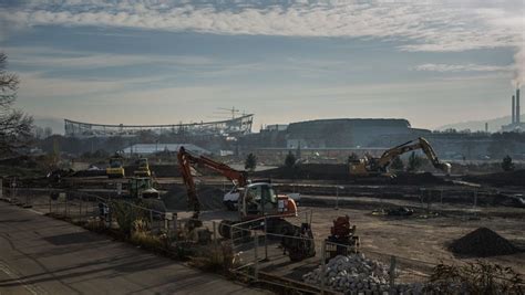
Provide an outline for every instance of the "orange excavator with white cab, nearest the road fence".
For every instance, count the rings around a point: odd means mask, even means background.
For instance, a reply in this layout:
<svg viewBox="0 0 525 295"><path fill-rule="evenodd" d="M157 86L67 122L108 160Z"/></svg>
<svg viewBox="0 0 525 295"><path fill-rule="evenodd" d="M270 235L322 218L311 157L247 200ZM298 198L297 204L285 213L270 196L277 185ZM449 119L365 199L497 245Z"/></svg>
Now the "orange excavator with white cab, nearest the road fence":
<svg viewBox="0 0 525 295"><path fill-rule="evenodd" d="M202 222L199 222L200 202L192 173L192 168L199 165L217 171L229 179L239 193L236 206L238 218L220 222L218 230L222 236L231 238L233 225L245 226L249 225L249 221L265 218L266 224L258 221L258 225L251 229L266 228L268 233L282 235L281 245L289 253L290 260L298 261L316 254L310 224L302 223L301 226L297 226L285 220L286 218L297 217L297 204L288 196L277 194L269 181L259 180L251 182L247 179L245 171L235 170L205 156L194 156L186 151L184 147L181 147L177 158L187 189L188 206L193 210L193 223L191 226L202 226Z"/></svg>

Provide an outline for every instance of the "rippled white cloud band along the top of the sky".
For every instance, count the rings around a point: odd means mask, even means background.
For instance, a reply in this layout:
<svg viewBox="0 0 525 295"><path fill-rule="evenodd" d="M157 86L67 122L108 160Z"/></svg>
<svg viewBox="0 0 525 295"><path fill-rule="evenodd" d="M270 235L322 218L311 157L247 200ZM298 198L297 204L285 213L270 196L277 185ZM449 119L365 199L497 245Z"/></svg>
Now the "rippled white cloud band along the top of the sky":
<svg viewBox="0 0 525 295"><path fill-rule="evenodd" d="M403 42L405 51L463 51L518 46L525 8L518 0L485 1L300 1L262 4L231 1L29 1L0 19L18 28L95 25L215 34L378 38Z"/></svg>

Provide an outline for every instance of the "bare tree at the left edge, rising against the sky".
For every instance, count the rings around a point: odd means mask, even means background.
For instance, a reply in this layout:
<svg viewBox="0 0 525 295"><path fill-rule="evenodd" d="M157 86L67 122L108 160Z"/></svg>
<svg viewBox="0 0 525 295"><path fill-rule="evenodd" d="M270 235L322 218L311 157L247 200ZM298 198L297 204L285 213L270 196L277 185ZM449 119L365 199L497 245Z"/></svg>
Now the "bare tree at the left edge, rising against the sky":
<svg viewBox="0 0 525 295"><path fill-rule="evenodd" d="M0 155L9 156L29 147L33 118L13 108L19 78L7 72L7 55L0 52Z"/></svg>

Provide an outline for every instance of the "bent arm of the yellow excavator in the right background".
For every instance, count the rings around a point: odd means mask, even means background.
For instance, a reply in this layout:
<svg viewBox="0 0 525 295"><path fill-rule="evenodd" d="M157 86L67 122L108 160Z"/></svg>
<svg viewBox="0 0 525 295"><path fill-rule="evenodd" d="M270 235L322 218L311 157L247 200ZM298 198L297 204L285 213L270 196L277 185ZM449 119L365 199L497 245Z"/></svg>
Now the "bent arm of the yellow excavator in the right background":
<svg viewBox="0 0 525 295"><path fill-rule="evenodd" d="M423 137L418 138L418 140L411 140L385 150L381 158L379 158L378 160L378 168L381 170L385 170L395 157L416 149L422 149L425 156L436 169L443 170L447 175L450 173L450 164L440 161L430 143Z"/></svg>

